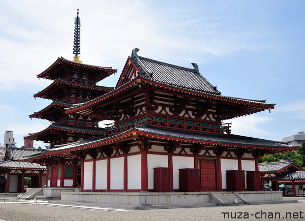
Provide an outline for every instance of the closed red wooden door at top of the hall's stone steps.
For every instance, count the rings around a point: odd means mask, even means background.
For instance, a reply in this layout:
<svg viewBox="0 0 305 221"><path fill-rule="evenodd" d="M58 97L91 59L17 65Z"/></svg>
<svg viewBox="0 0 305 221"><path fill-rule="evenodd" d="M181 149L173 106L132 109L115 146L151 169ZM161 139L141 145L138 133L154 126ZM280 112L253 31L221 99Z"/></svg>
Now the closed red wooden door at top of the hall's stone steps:
<svg viewBox="0 0 305 221"><path fill-rule="evenodd" d="M200 160L201 190L216 190L216 161Z"/></svg>

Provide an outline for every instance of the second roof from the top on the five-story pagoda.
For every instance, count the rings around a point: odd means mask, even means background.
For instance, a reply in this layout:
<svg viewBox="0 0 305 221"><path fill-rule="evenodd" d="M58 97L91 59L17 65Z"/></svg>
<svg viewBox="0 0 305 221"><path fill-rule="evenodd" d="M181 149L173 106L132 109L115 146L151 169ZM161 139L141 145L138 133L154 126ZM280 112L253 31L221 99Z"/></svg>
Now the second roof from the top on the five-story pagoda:
<svg viewBox="0 0 305 221"><path fill-rule="evenodd" d="M67 81L67 80L58 78L55 81L53 81L49 86L47 86L45 89L43 89L42 91L39 91L38 93L34 94L34 98L40 97L40 98L48 99L48 93L56 90L61 85L68 85L68 86L76 87L76 88L86 88L86 89L95 90L95 91L111 91L111 90L113 90L113 87L82 84L82 83L71 82L71 81Z"/></svg>

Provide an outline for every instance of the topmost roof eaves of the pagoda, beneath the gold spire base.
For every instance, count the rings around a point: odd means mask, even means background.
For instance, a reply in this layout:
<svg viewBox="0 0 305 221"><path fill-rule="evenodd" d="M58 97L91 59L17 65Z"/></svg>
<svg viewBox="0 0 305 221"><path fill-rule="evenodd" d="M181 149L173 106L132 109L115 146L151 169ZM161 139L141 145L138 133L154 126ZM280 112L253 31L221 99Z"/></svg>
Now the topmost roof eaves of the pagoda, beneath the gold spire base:
<svg viewBox="0 0 305 221"><path fill-rule="evenodd" d="M68 65L72 65L72 66L87 69L87 70L103 72L102 74L104 76L100 77L100 79L98 79L97 81L100 81L100 80L108 77L109 75L117 72L116 69L112 69L111 67L106 68L106 67L100 67L100 66L79 64L77 62L73 62L73 61L67 60L65 58L58 57L57 60L55 60L55 62L48 69L43 71L41 74L37 75L37 77L38 78L45 78L45 79L54 79L54 78L51 77L51 74L56 70L56 68L58 70L59 66L61 66L62 64L68 64Z"/></svg>

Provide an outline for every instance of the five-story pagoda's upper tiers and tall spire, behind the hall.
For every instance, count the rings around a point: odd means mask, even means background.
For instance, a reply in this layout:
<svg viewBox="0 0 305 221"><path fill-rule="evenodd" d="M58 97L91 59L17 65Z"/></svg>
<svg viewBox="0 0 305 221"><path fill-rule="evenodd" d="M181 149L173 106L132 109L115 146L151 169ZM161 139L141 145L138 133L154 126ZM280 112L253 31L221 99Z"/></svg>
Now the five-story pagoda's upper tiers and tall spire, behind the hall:
<svg viewBox="0 0 305 221"><path fill-rule="evenodd" d="M65 114L64 108L87 102L111 91L113 87L96 85L116 72L111 67L85 65L79 60L80 54L80 18L75 17L73 45L74 60L58 58L48 69L39 74L53 82L42 91L34 94L35 98L52 100L44 109L29 115L51 121L51 125L38 133L29 134L25 139L41 140L54 145L75 142L105 135L105 130L98 127L95 117L79 114Z"/></svg>

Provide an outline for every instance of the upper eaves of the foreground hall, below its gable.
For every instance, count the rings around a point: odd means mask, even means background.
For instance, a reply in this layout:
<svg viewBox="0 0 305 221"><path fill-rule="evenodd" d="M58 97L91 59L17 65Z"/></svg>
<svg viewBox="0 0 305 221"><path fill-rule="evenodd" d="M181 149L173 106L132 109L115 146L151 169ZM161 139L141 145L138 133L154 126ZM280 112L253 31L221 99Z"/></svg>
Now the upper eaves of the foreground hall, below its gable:
<svg viewBox="0 0 305 221"><path fill-rule="evenodd" d="M222 96L220 94L211 94L207 92L202 92L198 90L193 90L185 87L175 87L169 84L165 84L164 82L160 82L158 80L152 80L145 77L137 77L133 80L130 80L126 84L115 88L112 91L109 91L102 96L95 98L93 100L87 101L82 104L74 105L71 108L66 108L66 113L81 113L81 114L89 114L93 112L92 107L96 105L102 105L103 103L109 102L110 100L114 100L114 97L120 97L122 94L126 94L130 90L139 89L139 85L141 84L151 85L156 88L163 88L164 90L168 90L169 92L181 93L182 95L187 94L188 96L194 96L194 98L201 99L212 99L219 102L225 102L228 104L236 104L236 105L244 105L245 111L244 113L236 113L235 115L230 115L224 119L230 119L233 117L238 117L242 115L247 115L251 113L256 113L265 109L273 109L275 104L266 103L265 100L251 100L251 99L242 99L242 98L234 98L228 96Z"/></svg>

